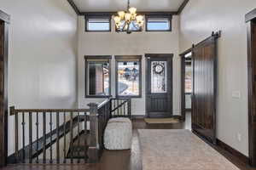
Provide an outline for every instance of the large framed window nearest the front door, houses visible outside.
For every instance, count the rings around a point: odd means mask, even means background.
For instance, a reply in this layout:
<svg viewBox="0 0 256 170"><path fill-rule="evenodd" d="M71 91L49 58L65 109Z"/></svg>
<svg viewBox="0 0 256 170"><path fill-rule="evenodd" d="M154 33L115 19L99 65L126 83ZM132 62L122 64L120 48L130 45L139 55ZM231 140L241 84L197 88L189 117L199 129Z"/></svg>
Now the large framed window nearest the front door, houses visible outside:
<svg viewBox="0 0 256 170"><path fill-rule="evenodd" d="M142 56L115 56L116 96L140 98L142 95Z"/></svg>

